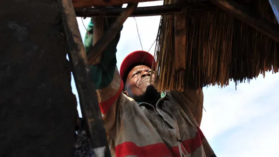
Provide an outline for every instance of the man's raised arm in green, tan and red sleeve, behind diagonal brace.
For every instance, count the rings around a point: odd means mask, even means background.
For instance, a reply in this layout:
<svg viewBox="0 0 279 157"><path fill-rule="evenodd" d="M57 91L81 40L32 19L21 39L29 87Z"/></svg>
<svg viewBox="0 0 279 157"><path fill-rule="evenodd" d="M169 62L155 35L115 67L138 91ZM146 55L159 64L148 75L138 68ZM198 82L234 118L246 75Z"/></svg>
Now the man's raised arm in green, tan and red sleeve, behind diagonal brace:
<svg viewBox="0 0 279 157"><path fill-rule="evenodd" d="M104 31L108 30L109 26L115 19L116 18L108 18L105 20ZM91 19L84 40L86 53L89 48L93 46L93 27L93 20ZM101 63L90 66L90 77L95 84L99 106L107 130L113 126L115 120L116 100L122 93L124 86L116 66L116 47L119 39L120 31L102 53Z"/></svg>

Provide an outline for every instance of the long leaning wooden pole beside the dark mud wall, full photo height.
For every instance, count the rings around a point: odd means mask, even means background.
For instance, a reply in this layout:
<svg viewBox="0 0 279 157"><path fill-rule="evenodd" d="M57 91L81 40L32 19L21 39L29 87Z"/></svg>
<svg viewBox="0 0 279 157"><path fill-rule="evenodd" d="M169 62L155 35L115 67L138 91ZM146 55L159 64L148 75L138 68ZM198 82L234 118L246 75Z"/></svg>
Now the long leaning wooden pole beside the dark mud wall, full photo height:
<svg viewBox="0 0 279 157"><path fill-rule="evenodd" d="M69 58L73 65L81 112L87 123L87 135L92 142L96 157L110 157L106 130L103 125L97 94L93 82L90 80L90 68L78 29L73 3L71 0L59 0L58 3L62 10L62 22L70 53Z"/></svg>

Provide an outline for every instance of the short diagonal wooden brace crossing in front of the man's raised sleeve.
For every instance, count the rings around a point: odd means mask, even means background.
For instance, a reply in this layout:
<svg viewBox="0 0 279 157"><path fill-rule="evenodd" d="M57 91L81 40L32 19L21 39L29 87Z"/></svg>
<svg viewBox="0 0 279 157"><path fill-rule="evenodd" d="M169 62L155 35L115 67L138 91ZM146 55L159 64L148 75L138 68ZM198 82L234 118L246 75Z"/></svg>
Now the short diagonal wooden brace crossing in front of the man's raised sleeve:
<svg viewBox="0 0 279 157"><path fill-rule="evenodd" d="M119 16L110 26L109 30L104 33L102 38L89 49L87 58L88 63L90 65L96 60L98 56L105 50L105 48L109 45L113 38L115 38L116 34L121 29L121 26L124 24L125 20L133 13L133 11L137 8L138 3L128 4L127 8L122 12L121 16Z"/></svg>

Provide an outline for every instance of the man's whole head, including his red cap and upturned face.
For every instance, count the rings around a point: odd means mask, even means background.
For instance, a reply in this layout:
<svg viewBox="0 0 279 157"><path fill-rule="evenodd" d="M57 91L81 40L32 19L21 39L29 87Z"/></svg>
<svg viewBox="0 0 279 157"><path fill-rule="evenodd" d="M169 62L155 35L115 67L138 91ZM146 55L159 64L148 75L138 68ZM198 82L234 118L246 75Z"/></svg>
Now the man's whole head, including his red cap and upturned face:
<svg viewBox="0 0 279 157"><path fill-rule="evenodd" d="M155 63L153 56L145 51L135 51L129 54L121 64L120 75L125 83L124 92L135 101L142 101L146 94L157 93L150 85L151 67ZM154 72L152 77L154 83Z"/></svg>

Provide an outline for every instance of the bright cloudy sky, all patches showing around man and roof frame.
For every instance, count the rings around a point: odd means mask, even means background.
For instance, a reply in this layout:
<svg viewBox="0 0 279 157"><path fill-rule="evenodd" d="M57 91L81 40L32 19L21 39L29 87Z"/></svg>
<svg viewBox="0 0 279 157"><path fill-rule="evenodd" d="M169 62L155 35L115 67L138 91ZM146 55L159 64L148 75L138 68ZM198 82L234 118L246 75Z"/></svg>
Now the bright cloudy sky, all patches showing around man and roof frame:
<svg viewBox="0 0 279 157"><path fill-rule="evenodd" d="M162 1L139 3L140 7L154 5L162 5ZM90 19L77 20L84 39L84 25ZM136 20L143 50L148 51L155 41L160 16L136 17ZM118 68L126 55L141 49L135 19L129 17L117 46ZM154 54L154 49L155 45L150 53ZM73 78L72 87L78 95ZM203 88L206 111L201 129L217 157L279 157L278 89L279 74L271 73L266 73L265 78L260 75L249 84L240 83L237 90L233 82L225 88Z"/></svg>

